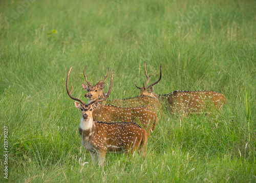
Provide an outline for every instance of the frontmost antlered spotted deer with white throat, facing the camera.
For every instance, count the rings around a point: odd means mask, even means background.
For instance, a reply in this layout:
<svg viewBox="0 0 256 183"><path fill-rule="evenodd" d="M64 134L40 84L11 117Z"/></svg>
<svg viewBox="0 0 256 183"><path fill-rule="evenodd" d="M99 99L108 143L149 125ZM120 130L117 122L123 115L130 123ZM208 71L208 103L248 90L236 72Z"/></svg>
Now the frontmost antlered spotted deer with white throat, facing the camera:
<svg viewBox="0 0 256 183"><path fill-rule="evenodd" d="M72 68L72 67L71 67ZM66 88L69 97L75 100L76 108L81 110L82 117L80 120L79 133L82 138L82 145L91 153L92 162L98 161L98 164L104 167L105 154L107 152L124 151L126 154L134 154L136 150L140 155L145 157L147 146L147 133L136 123L104 123L93 120L93 111L95 102L93 100L89 104L85 104L79 98L72 97L73 86L71 83L71 91L68 88L69 74L67 75ZM101 102L109 97L113 82L113 72L111 71L111 84L108 95ZM77 102L78 101L78 102Z"/></svg>

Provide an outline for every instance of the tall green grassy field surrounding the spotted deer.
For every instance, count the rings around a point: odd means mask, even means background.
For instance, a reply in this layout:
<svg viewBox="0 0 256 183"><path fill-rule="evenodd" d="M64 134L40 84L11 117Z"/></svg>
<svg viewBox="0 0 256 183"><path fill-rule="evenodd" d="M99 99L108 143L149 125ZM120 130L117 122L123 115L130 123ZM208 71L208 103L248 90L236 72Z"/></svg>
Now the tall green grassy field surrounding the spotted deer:
<svg viewBox="0 0 256 183"><path fill-rule="evenodd" d="M255 1L0 4L1 182L256 182ZM108 154L101 171L81 145L68 70L85 102L86 65L93 84L112 68L109 98L127 98L139 94L145 61L151 82L162 63L156 93L214 90L227 105L212 116L165 113L146 159Z"/></svg>

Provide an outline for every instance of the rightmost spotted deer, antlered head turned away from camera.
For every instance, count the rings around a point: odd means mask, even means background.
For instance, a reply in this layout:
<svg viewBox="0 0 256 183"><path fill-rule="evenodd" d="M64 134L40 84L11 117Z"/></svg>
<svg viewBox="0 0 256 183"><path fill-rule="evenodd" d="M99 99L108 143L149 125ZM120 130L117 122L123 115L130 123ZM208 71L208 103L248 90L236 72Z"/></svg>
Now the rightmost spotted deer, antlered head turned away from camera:
<svg viewBox="0 0 256 183"><path fill-rule="evenodd" d="M139 96L151 96L160 100L165 104L166 108L173 114L186 116L188 114L201 114L212 110L212 106L216 110L222 108L226 104L226 97L223 94L217 93L216 91L184 91L175 90L168 94L159 95L154 93L153 85L157 84L162 78L162 64L160 65L160 77L159 79L147 86L150 81L150 76L146 72L145 62L145 75L147 78L146 84L143 81L143 87L138 87L135 82L135 86L140 89Z"/></svg>

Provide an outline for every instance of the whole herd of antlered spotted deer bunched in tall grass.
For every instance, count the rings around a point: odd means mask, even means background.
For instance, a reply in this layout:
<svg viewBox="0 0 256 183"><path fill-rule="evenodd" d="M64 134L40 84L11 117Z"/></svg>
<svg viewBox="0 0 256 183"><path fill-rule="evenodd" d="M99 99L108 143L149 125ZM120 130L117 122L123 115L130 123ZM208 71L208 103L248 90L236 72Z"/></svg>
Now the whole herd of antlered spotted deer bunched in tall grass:
<svg viewBox="0 0 256 183"><path fill-rule="evenodd" d="M87 66L86 66L87 67ZM88 75L83 76L87 84L82 83L84 90L88 91L84 97L89 99L88 104L81 99L73 97L73 86L69 90L69 75L66 89L69 97L75 100L75 106L81 110L81 120L79 133L82 145L91 153L92 163L104 167L105 154L107 152L124 152L134 155L137 151L141 156L146 156L148 136L154 132L159 117L164 115L164 111L170 115L188 116L191 114L200 115L210 113L212 109L220 110L226 103L223 94L215 91L183 91L175 90L168 94L154 93L153 86L162 78L162 65L160 65L160 77L153 84L148 85L151 74L146 83L140 89L138 97L106 100L111 94L113 84L113 71L111 70L111 81L108 93L104 93L105 80L108 73L94 86L88 81Z"/></svg>

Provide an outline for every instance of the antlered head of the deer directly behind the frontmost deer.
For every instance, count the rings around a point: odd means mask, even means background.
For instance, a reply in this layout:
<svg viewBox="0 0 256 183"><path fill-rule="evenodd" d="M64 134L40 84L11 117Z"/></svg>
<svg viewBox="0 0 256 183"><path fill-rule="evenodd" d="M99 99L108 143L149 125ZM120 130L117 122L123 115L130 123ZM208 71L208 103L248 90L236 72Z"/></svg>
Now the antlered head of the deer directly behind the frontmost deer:
<svg viewBox="0 0 256 183"><path fill-rule="evenodd" d="M86 66L87 67L87 66ZM92 101L92 100L95 100L97 98L101 98L101 97L104 97L104 87L105 87L105 83L104 81L106 80L106 78L109 76L109 68L108 68L108 74L103 75L104 76L104 80L101 81L101 79L99 80L99 82L97 84L95 84L94 86L92 86L92 84L87 80L87 77L89 75L85 75L84 74L84 71L86 70L86 67L84 67L83 69L83 76L84 78L86 79L86 82L87 84L84 84L82 83L82 87L84 90L88 91L88 93L86 95L84 95L84 97L88 98L89 99L89 103Z"/></svg>

